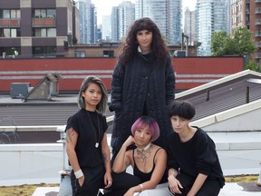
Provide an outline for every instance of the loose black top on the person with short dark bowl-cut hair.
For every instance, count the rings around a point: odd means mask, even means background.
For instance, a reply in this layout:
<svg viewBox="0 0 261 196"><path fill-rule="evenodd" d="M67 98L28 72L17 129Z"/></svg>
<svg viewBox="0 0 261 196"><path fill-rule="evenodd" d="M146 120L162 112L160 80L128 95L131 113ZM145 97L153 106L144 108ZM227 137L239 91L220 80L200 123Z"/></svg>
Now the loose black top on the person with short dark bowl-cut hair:
<svg viewBox="0 0 261 196"><path fill-rule="evenodd" d="M220 187L225 184L223 171L218 160L215 142L202 129L198 130L188 142L181 142L179 134L172 132L168 138L168 167L194 178L198 173L218 179Z"/></svg>

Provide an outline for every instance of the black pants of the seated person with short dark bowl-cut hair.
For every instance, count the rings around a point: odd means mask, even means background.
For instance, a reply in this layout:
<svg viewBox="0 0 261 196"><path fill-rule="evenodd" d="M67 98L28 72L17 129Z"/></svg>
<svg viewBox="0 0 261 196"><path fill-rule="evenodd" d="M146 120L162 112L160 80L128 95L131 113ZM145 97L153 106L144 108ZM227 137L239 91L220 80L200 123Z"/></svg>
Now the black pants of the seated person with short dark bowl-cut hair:
<svg viewBox="0 0 261 196"><path fill-rule="evenodd" d="M179 173L176 178L181 183L183 189L179 189L182 192L181 194L176 193L175 195L186 196L189 193L194 181L196 181L196 178L184 173ZM218 196L219 191L220 185L218 179L207 178L202 187L197 192L196 196Z"/></svg>

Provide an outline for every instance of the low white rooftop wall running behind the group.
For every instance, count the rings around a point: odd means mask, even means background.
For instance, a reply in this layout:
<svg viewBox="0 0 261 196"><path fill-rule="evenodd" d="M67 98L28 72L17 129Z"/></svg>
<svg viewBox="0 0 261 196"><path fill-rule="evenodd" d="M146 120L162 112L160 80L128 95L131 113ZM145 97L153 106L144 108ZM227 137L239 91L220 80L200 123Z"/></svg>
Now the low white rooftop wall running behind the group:
<svg viewBox="0 0 261 196"><path fill-rule="evenodd" d="M209 132L216 142L224 175L260 172L260 133ZM107 136L110 144L111 134ZM0 185L59 183L59 171L68 163L64 154L63 143L2 144L0 157L5 162L1 162Z"/></svg>

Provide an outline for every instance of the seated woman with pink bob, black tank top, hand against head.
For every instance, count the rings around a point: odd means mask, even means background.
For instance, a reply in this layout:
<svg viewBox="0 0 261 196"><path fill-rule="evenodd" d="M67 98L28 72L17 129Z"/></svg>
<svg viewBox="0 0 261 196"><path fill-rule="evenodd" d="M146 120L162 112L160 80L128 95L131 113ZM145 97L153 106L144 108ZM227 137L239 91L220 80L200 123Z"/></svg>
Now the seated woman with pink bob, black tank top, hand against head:
<svg viewBox="0 0 261 196"><path fill-rule="evenodd" d="M160 136L158 123L151 116L143 115L132 124L131 134L113 162L112 191L106 195L159 195L157 190L160 195L167 195L168 189L160 190L162 184L168 187L167 152L153 143ZM136 148L128 150L132 144ZM129 166L133 169L133 175L125 172Z"/></svg>

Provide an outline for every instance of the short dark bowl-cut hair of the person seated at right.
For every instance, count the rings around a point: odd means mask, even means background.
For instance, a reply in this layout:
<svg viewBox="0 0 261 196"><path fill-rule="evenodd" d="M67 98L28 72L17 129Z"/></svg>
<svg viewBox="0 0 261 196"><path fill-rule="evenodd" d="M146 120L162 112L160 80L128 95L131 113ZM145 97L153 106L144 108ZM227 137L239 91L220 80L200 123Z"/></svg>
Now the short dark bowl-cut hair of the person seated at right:
<svg viewBox="0 0 261 196"><path fill-rule="evenodd" d="M192 103L188 101L175 100L169 103L169 117L179 116L181 118L191 120L196 114L196 110Z"/></svg>

